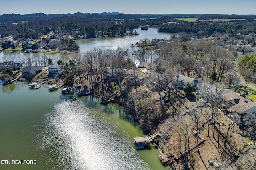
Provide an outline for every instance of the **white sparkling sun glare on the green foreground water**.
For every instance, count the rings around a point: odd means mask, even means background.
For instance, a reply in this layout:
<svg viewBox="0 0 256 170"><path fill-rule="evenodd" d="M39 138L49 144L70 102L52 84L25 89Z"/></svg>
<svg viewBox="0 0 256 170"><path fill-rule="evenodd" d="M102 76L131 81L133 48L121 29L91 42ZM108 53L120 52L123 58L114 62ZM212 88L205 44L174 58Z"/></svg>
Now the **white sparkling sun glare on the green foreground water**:
<svg viewBox="0 0 256 170"><path fill-rule="evenodd" d="M45 117L44 131L40 135L40 149L54 155L48 160L51 168L150 169L117 121L104 113L95 113L82 100L64 101L53 108Z"/></svg>

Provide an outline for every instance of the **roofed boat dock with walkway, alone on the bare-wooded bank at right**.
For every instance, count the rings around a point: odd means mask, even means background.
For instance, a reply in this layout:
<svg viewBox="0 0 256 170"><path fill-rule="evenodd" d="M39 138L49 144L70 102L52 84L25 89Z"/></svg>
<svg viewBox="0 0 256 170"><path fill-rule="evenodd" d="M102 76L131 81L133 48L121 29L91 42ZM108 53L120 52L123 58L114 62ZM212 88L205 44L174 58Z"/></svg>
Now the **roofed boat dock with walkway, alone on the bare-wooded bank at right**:
<svg viewBox="0 0 256 170"><path fill-rule="evenodd" d="M134 137L134 145L136 147L137 150L139 149L146 149L149 147L150 145L150 142L153 142L153 140L156 138L156 137L159 137L161 136L161 133L160 132L157 132L153 135L143 135L143 136L138 136L138 137Z"/></svg>

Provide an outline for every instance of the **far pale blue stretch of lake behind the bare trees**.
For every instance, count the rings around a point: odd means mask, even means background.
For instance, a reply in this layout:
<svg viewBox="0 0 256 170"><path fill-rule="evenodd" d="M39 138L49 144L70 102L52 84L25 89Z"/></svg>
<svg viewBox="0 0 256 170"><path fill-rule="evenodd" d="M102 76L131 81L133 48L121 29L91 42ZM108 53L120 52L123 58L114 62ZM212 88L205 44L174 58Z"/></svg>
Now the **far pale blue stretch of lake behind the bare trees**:
<svg viewBox="0 0 256 170"><path fill-rule="evenodd" d="M126 50L129 49L130 53L134 51L138 47L130 47L131 44L136 44L140 42L141 39L149 39L150 41L154 38L164 39L170 38L171 33L159 33L157 32L156 28L149 28L148 30L140 30L136 29L136 31L140 35L136 36L125 36L125 37L116 37L116 38L91 38L91 39L79 39L75 40L76 43L80 46L81 51L87 51L93 48L100 48L100 49L117 49L121 47L122 49ZM0 62L4 60L4 56L8 61L17 61L18 59L26 59L28 56L39 57L42 55L49 55L54 63L57 63L59 59L62 61L68 61L70 55L65 55L63 53L24 53L21 51L17 51L15 53L11 53L10 51L0 52Z"/></svg>

